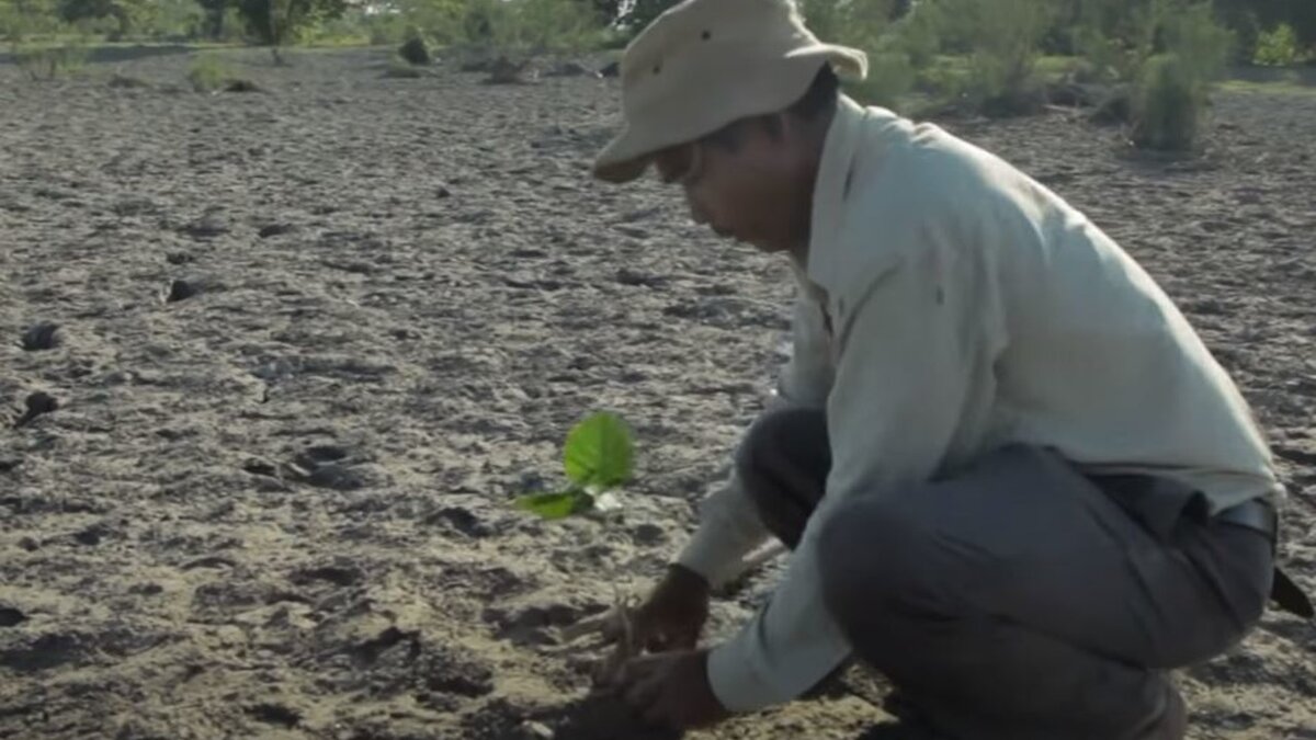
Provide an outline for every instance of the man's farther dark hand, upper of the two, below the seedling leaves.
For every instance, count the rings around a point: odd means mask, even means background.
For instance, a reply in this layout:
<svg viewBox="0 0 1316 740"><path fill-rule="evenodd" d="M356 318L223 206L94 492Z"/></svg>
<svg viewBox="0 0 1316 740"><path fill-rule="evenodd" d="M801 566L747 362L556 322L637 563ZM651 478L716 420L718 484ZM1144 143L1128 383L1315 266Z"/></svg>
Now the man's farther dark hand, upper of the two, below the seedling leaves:
<svg viewBox="0 0 1316 740"><path fill-rule="evenodd" d="M671 565L649 598L632 615L636 648L651 653L694 649L708 621L709 587L703 575L682 565ZM604 639L624 639L617 624L604 629Z"/></svg>

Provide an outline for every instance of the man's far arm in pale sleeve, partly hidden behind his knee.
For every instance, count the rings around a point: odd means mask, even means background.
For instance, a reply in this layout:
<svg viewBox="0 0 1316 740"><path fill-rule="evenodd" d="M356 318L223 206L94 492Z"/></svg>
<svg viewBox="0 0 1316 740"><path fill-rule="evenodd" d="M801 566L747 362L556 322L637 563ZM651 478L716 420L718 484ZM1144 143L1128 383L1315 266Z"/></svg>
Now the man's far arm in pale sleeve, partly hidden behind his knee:
<svg viewBox="0 0 1316 740"><path fill-rule="evenodd" d="M800 279L800 298L791 321L791 358L783 366L776 392L763 413L784 407L821 408L832 387L829 340L822 313L807 298L799 271L796 278ZM732 470L726 485L704 499L699 528L676 562L717 587L740 575L744 557L767 539L769 532L758 517L754 502Z"/></svg>

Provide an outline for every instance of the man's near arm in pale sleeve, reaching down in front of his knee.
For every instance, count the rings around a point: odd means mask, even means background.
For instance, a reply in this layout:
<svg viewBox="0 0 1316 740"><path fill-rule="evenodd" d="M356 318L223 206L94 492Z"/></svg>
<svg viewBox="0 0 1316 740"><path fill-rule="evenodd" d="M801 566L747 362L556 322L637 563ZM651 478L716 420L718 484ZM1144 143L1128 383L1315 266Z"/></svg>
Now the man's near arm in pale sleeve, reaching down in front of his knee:
<svg viewBox="0 0 1316 740"><path fill-rule="evenodd" d="M840 503L926 481L961 424L970 379L990 374L983 330L990 282L936 229L892 254L836 317L840 358L826 403L833 469L826 494L769 604L708 658L732 711L791 700L834 670L850 645L822 603L817 537ZM988 365L983 367L983 362ZM862 557L862 553L855 553Z"/></svg>

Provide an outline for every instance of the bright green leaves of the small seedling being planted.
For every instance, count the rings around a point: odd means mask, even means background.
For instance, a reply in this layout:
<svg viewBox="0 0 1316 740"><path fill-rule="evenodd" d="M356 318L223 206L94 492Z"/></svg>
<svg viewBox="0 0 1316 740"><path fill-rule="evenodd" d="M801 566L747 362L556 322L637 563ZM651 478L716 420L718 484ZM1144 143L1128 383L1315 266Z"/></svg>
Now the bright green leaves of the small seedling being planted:
<svg viewBox="0 0 1316 740"><path fill-rule="evenodd" d="M516 507L549 520L620 508L612 491L630 482L634 461L626 423L605 411L592 413L571 428L562 446L562 467L571 485L563 491L521 495Z"/></svg>

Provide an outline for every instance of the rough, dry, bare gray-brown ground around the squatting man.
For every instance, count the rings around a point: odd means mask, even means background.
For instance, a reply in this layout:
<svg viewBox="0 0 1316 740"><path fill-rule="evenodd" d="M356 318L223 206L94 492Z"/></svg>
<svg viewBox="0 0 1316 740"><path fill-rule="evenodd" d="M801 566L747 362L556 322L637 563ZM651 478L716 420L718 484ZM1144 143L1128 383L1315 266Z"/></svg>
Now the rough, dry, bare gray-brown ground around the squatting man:
<svg viewBox="0 0 1316 740"><path fill-rule="evenodd" d="M634 736L571 715L597 653L554 627L682 544L779 361L786 270L590 180L612 80L232 58L266 92L193 93L183 55L124 62L145 88L0 67L0 737ZM1062 113L946 125L1186 308L1274 440L1316 590L1316 96L1216 113L1192 163ZM624 515L512 511L604 407L642 444ZM1316 737L1309 624L1273 612L1183 681L1196 740ZM700 736L857 740L879 695Z"/></svg>

